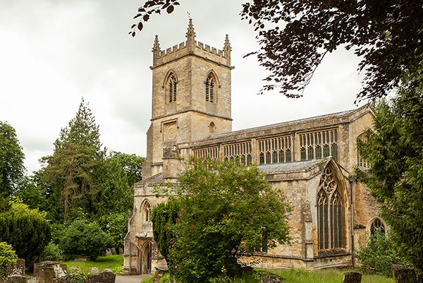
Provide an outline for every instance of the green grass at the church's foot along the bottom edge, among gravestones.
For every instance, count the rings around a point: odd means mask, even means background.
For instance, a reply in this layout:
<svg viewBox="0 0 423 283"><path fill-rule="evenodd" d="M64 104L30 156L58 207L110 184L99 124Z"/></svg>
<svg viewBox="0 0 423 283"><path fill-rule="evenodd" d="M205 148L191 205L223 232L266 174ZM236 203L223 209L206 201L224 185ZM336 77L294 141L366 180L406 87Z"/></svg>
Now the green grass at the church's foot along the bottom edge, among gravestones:
<svg viewBox="0 0 423 283"><path fill-rule="evenodd" d="M284 283L341 283L343 274L347 271L341 270L313 270L302 269L291 270L259 270L264 274L275 274L283 278ZM361 272L360 272L361 273ZM257 283L260 280L253 276L234 279L233 283ZM142 283L152 282L152 276L142 281ZM159 283L168 283L168 276L164 277ZM232 282L232 281L231 281ZM395 283L392 278L381 275L362 276L362 283Z"/></svg>

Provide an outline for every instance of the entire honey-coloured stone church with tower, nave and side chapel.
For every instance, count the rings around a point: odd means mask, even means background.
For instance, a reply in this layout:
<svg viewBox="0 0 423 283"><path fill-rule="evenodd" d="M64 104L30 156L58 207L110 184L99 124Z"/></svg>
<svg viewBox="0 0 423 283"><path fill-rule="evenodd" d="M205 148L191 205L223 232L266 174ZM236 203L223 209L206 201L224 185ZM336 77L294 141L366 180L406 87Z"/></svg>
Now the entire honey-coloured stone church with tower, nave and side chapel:
<svg viewBox="0 0 423 283"><path fill-rule="evenodd" d="M156 37L152 52L152 119L125 236L125 274L166 266L150 215L166 201L157 184L177 182L180 156L257 164L286 194L292 243L255 253L259 267L350 266L367 234L385 229L376 201L353 177L356 167L367 167L356 140L372 127L369 107L232 131L228 36L223 50L197 42L190 20L185 42L161 50Z"/></svg>

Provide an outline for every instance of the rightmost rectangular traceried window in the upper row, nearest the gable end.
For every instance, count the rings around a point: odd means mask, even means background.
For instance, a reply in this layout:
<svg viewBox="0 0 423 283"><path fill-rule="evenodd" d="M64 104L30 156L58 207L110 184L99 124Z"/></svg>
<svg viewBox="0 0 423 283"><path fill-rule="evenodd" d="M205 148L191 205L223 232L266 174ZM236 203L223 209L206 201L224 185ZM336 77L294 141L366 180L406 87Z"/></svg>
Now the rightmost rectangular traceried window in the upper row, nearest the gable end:
<svg viewBox="0 0 423 283"><path fill-rule="evenodd" d="M300 134L301 161L333 157L338 159L338 131L319 131Z"/></svg>

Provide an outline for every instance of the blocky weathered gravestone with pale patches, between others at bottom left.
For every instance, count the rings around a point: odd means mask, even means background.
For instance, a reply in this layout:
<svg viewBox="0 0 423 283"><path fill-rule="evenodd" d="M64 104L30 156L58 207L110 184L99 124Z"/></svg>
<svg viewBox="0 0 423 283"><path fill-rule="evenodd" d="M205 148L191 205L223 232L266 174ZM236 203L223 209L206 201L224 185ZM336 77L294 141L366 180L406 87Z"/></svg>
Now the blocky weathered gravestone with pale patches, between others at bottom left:
<svg viewBox="0 0 423 283"><path fill-rule="evenodd" d="M70 283L71 277L66 270L66 264L57 261L43 261L34 264L34 277L44 283Z"/></svg>

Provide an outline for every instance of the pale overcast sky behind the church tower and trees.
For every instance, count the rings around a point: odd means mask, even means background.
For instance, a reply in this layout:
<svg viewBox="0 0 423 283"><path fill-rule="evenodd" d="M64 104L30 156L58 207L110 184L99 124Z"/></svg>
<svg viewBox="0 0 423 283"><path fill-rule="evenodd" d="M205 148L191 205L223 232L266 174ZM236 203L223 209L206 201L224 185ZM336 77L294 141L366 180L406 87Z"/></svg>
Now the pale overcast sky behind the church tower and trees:
<svg viewBox="0 0 423 283"><path fill-rule="evenodd" d="M0 0L0 121L16 128L28 172L51 155L61 128L84 97L109 150L145 156L151 118L152 44L185 40L190 12L197 40L218 49L231 41L233 130L354 109L362 76L352 52L326 57L300 99L257 95L264 68L243 54L258 47L240 20L245 0L181 0L135 38L130 25L142 0Z"/></svg>

